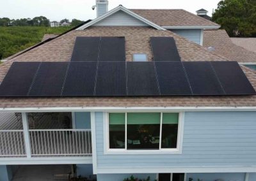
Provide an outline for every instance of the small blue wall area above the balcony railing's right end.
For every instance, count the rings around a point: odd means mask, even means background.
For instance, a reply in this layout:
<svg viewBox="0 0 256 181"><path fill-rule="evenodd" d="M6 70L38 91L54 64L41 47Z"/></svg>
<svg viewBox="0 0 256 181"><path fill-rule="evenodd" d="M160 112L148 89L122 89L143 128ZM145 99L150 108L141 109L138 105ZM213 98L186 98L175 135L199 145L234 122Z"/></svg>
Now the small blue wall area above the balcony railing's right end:
<svg viewBox="0 0 256 181"><path fill-rule="evenodd" d="M90 112L75 113L76 129L91 129Z"/></svg>

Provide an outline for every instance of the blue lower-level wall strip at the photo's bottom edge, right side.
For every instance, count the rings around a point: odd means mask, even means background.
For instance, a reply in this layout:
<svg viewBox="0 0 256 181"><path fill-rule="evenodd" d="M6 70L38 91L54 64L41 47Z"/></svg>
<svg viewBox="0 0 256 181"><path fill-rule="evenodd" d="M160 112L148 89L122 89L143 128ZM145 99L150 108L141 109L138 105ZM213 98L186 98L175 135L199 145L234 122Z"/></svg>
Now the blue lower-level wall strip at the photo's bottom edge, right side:
<svg viewBox="0 0 256 181"><path fill-rule="evenodd" d="M193 178L193 180L204 180L204 181L212 181L212 180L236 180L236 181L244 181L245 173L188 173L187 180L189 178Z"/></svg>

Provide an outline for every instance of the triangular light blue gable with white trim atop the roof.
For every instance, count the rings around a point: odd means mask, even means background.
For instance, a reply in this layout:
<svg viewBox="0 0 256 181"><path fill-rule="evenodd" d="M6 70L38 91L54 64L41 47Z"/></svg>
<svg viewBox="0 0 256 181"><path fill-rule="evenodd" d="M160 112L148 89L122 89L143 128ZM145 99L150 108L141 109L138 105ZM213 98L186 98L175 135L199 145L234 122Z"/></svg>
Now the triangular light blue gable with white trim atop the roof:
<svg viewBox="0 0 256 181"><path fill-rule="evenodd" d="M106 23L110 20L111 24L108 24L108 26L113 26L113 20L114 20L114 24L115 26L124 26L124 22L120 21L120 22L115 22L115 20L119 17L119 16L125 17L127 20L129 20L128 22L126 22L126 26L129 25L140 25L140 26L151 26L154 27L158 30L166 30L163 27L154 24L153 22L150 22L149 20L147 20L146 18L141 17L140 15L137 15L136 13L132 12L131 10L128 10L127 8L124 8L124 6L120 5L116 8L114 8L111 11L108 11L108 13L105 13L104 15L95 18L94 20L92 20L91 22L89 22L88 24L84 24L81 27L78 27L76 30L83 30L86 29L90 26L95 26L95 25L104 25L106 26Z"/></svg>

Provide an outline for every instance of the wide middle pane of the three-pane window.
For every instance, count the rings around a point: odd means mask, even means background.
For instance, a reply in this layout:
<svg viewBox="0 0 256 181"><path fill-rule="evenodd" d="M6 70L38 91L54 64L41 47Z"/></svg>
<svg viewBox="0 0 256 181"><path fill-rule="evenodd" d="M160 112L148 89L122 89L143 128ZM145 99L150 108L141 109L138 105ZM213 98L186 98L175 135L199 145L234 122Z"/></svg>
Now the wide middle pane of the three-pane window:
<svg viewBox="0 0 256 181"><path fill-rule="evenodd" d="M127 113L127 149L159 149L160 113Z"/></svg>

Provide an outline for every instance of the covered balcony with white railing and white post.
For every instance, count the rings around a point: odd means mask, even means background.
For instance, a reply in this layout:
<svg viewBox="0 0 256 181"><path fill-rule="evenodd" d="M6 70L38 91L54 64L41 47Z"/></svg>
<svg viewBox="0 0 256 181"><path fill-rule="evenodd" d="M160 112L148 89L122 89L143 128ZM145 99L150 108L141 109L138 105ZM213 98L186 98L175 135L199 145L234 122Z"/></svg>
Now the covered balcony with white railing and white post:
<svg viewBox="0 0 256 181"><path fill-rule="evenodd" d="M71 113L64 114L0 113L0 161L13 157L92 157L91 130L73 129Z"/></svg>

